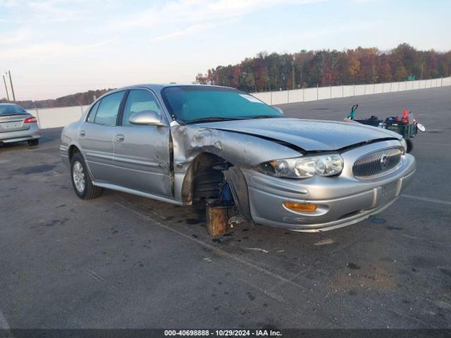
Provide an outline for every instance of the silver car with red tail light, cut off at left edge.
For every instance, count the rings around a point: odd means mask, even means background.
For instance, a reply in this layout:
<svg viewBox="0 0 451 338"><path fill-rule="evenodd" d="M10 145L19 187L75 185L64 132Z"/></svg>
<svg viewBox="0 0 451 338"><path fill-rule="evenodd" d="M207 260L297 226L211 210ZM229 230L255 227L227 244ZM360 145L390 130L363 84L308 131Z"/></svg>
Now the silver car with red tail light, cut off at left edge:
<svg viewBox="0 0 451 338"><path fill-rule="evenodd" d="M40 137L35 116L17 104L0 104L0 146L23 141L37 146Z"/></svg>

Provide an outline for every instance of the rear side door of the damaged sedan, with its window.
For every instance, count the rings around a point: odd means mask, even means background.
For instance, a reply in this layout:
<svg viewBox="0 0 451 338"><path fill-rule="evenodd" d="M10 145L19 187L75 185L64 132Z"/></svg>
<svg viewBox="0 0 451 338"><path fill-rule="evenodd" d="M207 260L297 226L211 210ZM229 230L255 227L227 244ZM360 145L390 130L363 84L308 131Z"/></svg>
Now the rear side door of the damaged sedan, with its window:
<svg viewBox="0 0 451 338"><path fill-rule="evenodd" d="M113 135L125 91L104 96L78 127L78 143L93 180L113 182Z"/></svg>

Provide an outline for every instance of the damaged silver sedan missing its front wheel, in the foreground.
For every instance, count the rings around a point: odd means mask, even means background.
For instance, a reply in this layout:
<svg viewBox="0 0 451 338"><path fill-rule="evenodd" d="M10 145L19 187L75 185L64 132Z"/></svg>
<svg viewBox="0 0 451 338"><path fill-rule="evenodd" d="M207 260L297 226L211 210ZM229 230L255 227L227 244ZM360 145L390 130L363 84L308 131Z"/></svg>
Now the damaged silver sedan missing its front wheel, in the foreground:
<svg viewBox="0 0 451 338"><path fill-rule="evenodd" d="M324 231L379 213L415 171L400 134L286 118L245 92L143 84L101 96L61 134L75 194L230 204L249 223Z"/></svg>

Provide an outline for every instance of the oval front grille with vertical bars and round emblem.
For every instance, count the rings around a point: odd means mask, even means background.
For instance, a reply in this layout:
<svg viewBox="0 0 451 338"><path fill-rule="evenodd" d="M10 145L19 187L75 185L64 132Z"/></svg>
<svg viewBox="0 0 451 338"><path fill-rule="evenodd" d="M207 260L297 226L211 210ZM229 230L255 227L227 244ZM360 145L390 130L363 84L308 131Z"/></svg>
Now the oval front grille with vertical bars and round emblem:
<svg viewBox="0 0 451 338"><path fill-rule="evenodd" d="M361 179L385 175L397 167L402 154L404 154L402 147L381 149L365 154L354 162L352 173Z"/></svg>

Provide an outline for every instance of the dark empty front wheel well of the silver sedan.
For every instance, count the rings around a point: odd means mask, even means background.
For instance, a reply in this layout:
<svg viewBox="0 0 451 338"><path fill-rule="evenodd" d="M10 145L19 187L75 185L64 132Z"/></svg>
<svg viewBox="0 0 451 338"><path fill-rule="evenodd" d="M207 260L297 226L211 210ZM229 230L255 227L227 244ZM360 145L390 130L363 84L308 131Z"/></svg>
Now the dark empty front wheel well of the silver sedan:
<svg viewBox="0 0 451 338"><path fill-rule="evenodd" d="M182 198L187 204L201 199L218 199L225 182L223 171L232 164L210 153L199 154L185 175Z"/></svg>

